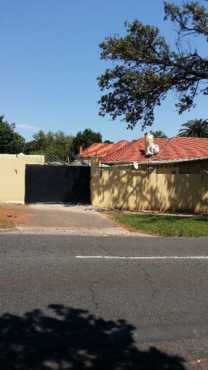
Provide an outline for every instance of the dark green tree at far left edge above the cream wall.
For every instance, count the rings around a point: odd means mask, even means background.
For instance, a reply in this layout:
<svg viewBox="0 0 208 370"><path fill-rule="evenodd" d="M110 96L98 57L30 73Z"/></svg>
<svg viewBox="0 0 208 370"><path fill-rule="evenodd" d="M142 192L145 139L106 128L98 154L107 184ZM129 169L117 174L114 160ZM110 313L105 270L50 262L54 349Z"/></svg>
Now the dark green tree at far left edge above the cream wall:
<svg viewBox="0 0 208 370"><path fill-rule="evenodd" d="M0 153L18 154L24 150L24 138L15 132L15 124L10 124L0 116Z"/></svg>

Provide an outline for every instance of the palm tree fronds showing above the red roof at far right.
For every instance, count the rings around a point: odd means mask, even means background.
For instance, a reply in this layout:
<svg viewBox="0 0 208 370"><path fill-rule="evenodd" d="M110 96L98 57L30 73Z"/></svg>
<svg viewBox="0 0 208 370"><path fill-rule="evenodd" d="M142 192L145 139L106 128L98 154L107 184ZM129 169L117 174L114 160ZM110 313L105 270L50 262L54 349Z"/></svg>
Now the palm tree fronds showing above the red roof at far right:
<svg viewBox="0 0 208 370"><path fill-rule="evenodd" d="M188 121L182 125L178 136L208 137L208 121L203 119Z"/></svg>

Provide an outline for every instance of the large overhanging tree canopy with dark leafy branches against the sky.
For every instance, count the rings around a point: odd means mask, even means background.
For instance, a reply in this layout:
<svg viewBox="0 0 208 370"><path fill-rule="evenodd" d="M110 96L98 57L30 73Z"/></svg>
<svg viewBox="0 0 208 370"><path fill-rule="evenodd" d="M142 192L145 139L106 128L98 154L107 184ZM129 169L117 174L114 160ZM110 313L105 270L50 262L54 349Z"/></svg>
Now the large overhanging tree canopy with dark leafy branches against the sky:
<svg viewBox="0 0 208 370"><path fill-rule="evenodd" d="M208 95L208 59L187 48L187 37L208 42L208 9L197 1L181 6L165 2L165 20L177 26L172 49L158 28L138 20L126 23L124 37L108 37L101 45L101 58L113 61L98 83L103 91L100 114L123 118L128 128L137 122L151 126L154 111L170 91L178 95L179 113L190 109L198 93ZM186 38L186 39L185 39ZM184 40L185 39L185 40ZM183 44L184 42L184 44Z"/></svg>

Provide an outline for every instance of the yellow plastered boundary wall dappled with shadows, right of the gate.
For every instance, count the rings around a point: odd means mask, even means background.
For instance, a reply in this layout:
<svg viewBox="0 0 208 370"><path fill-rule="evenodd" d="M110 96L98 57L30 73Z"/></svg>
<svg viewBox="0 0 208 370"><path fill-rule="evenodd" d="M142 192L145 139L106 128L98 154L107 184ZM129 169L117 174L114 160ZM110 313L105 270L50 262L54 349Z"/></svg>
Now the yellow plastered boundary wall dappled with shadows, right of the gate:
<svg viewBox="0 0 208 370"><path fill-rule="evenodd" d="M157 174L91 167L91 201L108 210L187 211L208 214L207 174Z"/></svg>

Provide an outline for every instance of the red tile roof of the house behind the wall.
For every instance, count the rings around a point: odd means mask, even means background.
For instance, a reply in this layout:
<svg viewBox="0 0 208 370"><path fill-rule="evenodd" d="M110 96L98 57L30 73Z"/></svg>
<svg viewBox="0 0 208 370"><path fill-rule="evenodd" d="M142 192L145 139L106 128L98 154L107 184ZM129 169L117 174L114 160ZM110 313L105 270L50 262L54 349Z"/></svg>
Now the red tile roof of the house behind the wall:
<svg viewBox="0 0 208 370"><path fill-rule="evenodd" d="M93 144L82 151L82 157L98 157L103 163L114 162L152 162L180 161L208 158L208 139L194 137L173 137L170 139L155 138L160 152L154 156L145 155L144 138L128 142L119 141L116 144Z"/></svg>

